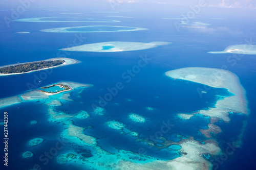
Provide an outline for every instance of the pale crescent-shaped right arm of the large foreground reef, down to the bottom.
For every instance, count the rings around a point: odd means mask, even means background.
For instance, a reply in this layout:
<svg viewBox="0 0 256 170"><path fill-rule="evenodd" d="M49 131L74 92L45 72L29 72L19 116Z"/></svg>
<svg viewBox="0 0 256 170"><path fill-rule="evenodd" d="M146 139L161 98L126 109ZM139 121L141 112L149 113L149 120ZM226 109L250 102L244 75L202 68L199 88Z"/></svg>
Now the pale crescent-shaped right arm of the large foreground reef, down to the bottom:
<svg viewBox="0 0 256 170"><path fill-rule="evenodd" d="M189 121L190 117L194 114L202 114L209 117L210 124L208 124L208 128L200 130L200 132L206 138L212 138L213 135L222 133L221 128L215 125L215 123L217 123L219 120L223 120L223 122L226 123L230 122L229 114L231 112L239 114L242 113L245 115L248 115L249 113L247 100L245 97L245 90L240 84L238 77L230 71L217 68L188 67L167 71L165 72L165 75L174 80L180 79L191 81L204 84L212 88L226 88L230 94L232 94L226 96L225 98L217 98L218 100L214 108L199 110L189 114L177 114L177 116L180 118L187 119L186 121ZM202 91L207 91L207 89L201 90L201 92ZM233 142L234 146L237 148L239 148L241 145L242 135L243 130L240 132L238 140ZM181 157L170 161L169 164L174 165L172 162L176 163L175 166L179 167L177 169L211 169L212 164L206 161L202 154L221 154L221 149L218 146L218 142L214 139L199 142L190 137L189 139L182 140L179 142L179 144L181 146L181 152L186 154L182 154ZM181 160L183 163L181 163Z"/></svg>

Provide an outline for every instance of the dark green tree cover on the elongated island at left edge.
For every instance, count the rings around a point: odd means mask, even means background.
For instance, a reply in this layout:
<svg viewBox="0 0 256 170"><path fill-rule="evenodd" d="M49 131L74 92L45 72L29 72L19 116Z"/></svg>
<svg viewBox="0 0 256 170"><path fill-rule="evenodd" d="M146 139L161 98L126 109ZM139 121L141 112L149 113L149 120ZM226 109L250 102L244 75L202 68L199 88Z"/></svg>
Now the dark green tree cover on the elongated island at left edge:
<svg viewBox="0 0 256 170"><path fill-rule="evenodd" d="M57 65L63 64L64 62L65 60L45 60L45 61L30 62L25 64L16 64L16 65L0 68L0 74L13 74L13 73L22 73L22 72L40 70L40 69L57 66Z"/></svg>

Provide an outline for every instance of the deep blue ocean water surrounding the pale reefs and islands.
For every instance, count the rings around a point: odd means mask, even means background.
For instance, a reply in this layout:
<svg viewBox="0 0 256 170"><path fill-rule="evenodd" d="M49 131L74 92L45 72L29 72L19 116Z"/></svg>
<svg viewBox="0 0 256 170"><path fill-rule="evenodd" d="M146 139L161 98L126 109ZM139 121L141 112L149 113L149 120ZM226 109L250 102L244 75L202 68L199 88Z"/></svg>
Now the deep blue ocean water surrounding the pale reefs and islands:
<svg viewBox="0 0 256 170"><path fill-rule="evenodd" d="M78 12L78 11L70 11ZM20 18L26 17L45 17L61 16L59 11L28 11ZM85 13L83 11L83 13ZM203 14L203 13L202 13ZM2 16L9 16L10 11L4 11ZM105 14L87 12L79 17L105 19ZM38 30L50 29L57 27L75 27L95 25L95 23L63 23L63 22L12 22L10 28L7 28L4 21L1 20L0 33L0 53L1 64L8 65L17 62L39 61L54 57L68 57L80 60L81 63L53 69L47 78L40 78L40 71L29 74L17 75L11 77L1 77L0 81L0 98L24 93L29 90L27 84L40 79L39 85L34 88L46 86L58 81L74 81L79 83L90 83L94 87L81 93L81 98L77 98L75 93L71 93L74 102L69 105L63 105L58 109L69 112L70 114L77 111L87 110L92 112L92 104L98 104L99 96L104 96L108 92L107 88L115 86L116 82L123 82L124 88L105 106L105 116L92 114L91 118L74 120L74 125L86 127L93 126L92 129L85 130L86 134L98 138L98 143L102 149L110 152L116 152L116 149L124 149L137 152L138 148L148 145L138 143L135 137L120 135L119 132L108 129L104 122L107 120L118 120L126 125L132 131L140 133L141 137L148 138L162 126L162 120L170 120L174 128L164 137L178 141L177 134L184 136L195 136L198 140L205 138L198 132L198 129L205 129L209 123L208 120L201 116L191 118L190 124L187 125L185 120L180 120L174 116L175 113L190 113L200 109L214 106L216 102L215 95L229 95L225 89L212 88L207 91L203 98L200 98L197 88L203 88L202 85L186 81L172 80L164 76L164 72L172 69L200 66L221 68L223 65L240 77L241 84L247 91L247 99L251 110L250 118L243 115L232 115L229 124L219 123L223 129L223 134L217 135L220 139L220 145L225 150L226 143L234 139L239 129L241 129L241 120L248 119L247 129L243 137L243 147L238 149L220 169L254 169L254 153L256 147L253 144L255 140L255 55L246 55L237 60L235 65L227 62L228 54L212 55L208 51L221 51L231 44L243 43L245 38L255 39L253 35L255 24L250 17L236 16L236 22L233 16L225 15L227 20L210 20L217 14L204 14L200 16L200 22L210 23L210 27L216 30L198 31L182 28L177 32L173 20L161 19L166 17L163 14L146 16L143 11L132 13L136 16L131 18L118 18L118 26L142 27L150 30L135 32L113 32L113 33L42 33ZM174 14L172 15L176 17ZM73 17L73 16L71 16ZM177 15L179 17L179 15ZM47 20L49 20L48 18ZM56 18L51 18L56 19ZM58 20L60 18L57 18ZM67 18L66 18L67 19ZM69 18L70 19L70 18ZM65 20L65 19L64 19ZM240 25L237 25L239 20ZM194 21L194 20L193 20ZM99 25L102 25L100 23ZM108 25L108 23L106 23ZM115 25L117 25L115 23ZM226 27L228 29L218 29ZM228 30L228 31L227 31ZM31 34L13 34L19 31L29 31ZM122 52L122 53L65 53L58 51L59 48L68 47L77 37L82 37L81 44L96 43L104 41L170 41L171 45L159 46L143 51ZM138 64L140 56L147 56L152 60L140 72L132 78L132 81L126 83L121 75ZM37 81L38 82L38 81ZM128 101L128 100L131 101ZM80 104L79 102L83 102ZM148 111L145 108L155 108ZM23 103L11 107L1 108L0 112L9 113L9 154L10 169L29 169L31 165L39 164L43 169L70 169L63 165L58 165L55 161L49 161L49 164L43 165L38 157L44 152L49 151L57 142L57 136L63 130L60 124L48 123L46 106L39 103ZM134 112L146 117L146 124L132 123L127 115ZM1 118L2 119L2 118ZM156 121L156 119L158 121ZM36 125L30 125L31 120L37 120ZM187 127L190 128L187 128ZM44 147L34 147L32 152L35 156L31 159L22 159L21 154L28 150L26 142L34 137L43 137ZM116 140L118 138L118 140ZM1 142L2 143L2 142ZM160 141L161 143L161 141ZM2 144L0 145L2 148ZM61 150L65 153L71 149L67 145ZM147 155L154 156L158 159L169 160L173 155L167 155L165 150L147 149ZM55 159L55 158L54 158ZM234 166L236 165L236 166ZM2 167L2 164L1 164ZM72 167L75 169L75 167Z"/></svg>

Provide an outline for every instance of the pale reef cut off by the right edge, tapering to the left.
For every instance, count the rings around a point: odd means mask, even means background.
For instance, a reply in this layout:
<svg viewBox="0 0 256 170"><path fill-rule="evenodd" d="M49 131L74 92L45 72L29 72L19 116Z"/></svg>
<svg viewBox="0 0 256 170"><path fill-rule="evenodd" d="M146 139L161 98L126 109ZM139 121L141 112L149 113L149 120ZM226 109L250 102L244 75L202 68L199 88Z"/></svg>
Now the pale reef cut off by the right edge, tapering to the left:
<svg viewBox="0 0 256 170"><path fill-rule="evenodd" d="M208 52L210 54L247 54L247 55L256 55L256 45L252 44L239 44L239 45L230 45L225 48L224 51Z"/></svg>

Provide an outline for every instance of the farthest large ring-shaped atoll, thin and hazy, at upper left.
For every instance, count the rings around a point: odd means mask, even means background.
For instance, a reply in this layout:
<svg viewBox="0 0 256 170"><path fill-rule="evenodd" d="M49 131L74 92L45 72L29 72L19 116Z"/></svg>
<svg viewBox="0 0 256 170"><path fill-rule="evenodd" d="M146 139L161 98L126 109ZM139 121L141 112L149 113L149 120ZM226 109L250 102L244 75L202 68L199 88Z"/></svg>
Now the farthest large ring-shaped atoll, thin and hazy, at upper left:
<svg viewBox="0 0 256 170"><path fill-rule="evenodd" d="M61 17L61 16L22 18L22 19L15 19L14 21L19 21L19 22L120 22L118 20L111 20L111 19L94 19L94 18Z"/></svg>

